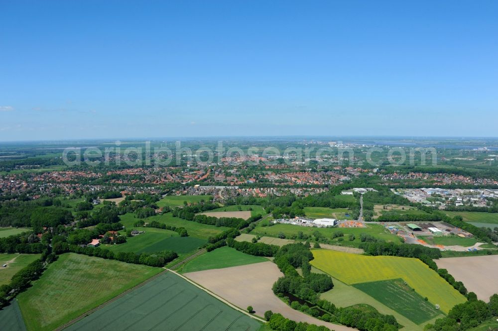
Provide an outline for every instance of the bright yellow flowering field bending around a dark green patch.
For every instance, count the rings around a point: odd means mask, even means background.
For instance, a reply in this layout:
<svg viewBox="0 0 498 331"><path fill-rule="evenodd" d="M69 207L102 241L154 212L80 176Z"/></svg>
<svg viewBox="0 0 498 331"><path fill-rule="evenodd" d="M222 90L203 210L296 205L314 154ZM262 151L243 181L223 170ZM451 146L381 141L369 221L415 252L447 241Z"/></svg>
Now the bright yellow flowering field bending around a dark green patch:
<svg viewBox="0 0 498 331"><path fill-rule="evenodd" d="M310 263L346 284L403 279L429 302L448 311L465 297L419 259L397 256L365 256L333 250L312 250Z"/></svg>

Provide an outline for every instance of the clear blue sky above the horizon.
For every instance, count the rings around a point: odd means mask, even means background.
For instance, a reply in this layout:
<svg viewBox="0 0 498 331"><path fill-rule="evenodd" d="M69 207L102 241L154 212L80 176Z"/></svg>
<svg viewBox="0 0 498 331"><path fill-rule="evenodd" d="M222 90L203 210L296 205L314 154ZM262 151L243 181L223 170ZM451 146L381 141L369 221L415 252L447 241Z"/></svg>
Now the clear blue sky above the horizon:
<svg viewBox="0 0 498 331"><path fill-rule="evenodd" d="M498 136L498 1L0 0L0 141Z"/></svg>

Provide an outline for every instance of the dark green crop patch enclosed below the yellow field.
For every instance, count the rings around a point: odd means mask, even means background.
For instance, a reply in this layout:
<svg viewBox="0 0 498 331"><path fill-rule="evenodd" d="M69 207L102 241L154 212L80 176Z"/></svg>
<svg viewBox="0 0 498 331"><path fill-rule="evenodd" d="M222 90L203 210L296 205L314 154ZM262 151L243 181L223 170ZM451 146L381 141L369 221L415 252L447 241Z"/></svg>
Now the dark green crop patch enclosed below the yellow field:
<svg viewBox="0 0 498 331"><path fill-rule="evenodd" d="M354 287L419 325L441 313L402 279L355 284Z"/></svg>

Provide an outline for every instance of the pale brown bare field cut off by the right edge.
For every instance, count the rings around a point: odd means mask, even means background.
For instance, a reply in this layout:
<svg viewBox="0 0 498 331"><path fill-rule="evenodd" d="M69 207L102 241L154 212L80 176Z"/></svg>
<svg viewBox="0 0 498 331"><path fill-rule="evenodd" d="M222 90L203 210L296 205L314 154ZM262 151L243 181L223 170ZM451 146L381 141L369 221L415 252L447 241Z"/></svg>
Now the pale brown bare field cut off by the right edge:
<svg viewBox="0 0 498 331"><path fill-rule="evenodd" d="M434 260L438 268L447 269L457 281L464 283L469 292L488 302L498 293L498 255L448 257Z"/></svg>

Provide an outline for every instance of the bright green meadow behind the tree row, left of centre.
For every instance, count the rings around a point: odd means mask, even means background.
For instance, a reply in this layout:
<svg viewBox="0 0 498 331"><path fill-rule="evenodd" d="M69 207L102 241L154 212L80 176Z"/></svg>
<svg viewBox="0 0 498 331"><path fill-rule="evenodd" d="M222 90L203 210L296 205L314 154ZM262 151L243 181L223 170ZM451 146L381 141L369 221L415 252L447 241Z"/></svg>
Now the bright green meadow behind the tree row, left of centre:
<svg viewBox="0 0 498 331"><path fill-rule="evenodd" d="M122 216L120 216L121 222L127 229L137 229L140 231L152 231L152 228L150 227L135 227L133 226L133 223L138 221L139 219L135 218L134 214L127 213ZM147 219L143 219L145 222L150 222L150 221L158 221L160 223L165 223L166 225L170 226L176 226L180 227L183 226L187 229L187 232L189 236L201 238L201 239L207 239L208 237L212 235L216 235L220 232L225 231L228 229L228 227L225 226L215 226L215 225L206 225L206 224L201 224L197 223L194 221L187 221L183 220L177 217L173 217L171 213L167 214L162 214L162 215L156 215L149 217ZM162 230L162 229L157 229L157 230ZM165 231L165 230L162 230Z"/></svg>

